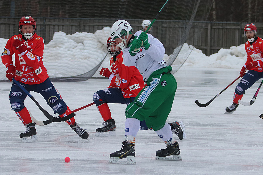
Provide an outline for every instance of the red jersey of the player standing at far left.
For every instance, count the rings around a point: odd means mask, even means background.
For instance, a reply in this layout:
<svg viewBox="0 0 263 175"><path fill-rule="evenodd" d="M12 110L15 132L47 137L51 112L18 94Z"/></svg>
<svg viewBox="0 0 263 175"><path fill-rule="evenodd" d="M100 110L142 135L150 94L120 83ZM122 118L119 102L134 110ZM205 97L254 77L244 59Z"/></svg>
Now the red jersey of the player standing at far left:
<svg viewBox="0 0 263 175"><path fill-rule="evenodd" d="M21 38L22 35L12 36L6 43L2 54L2 62L6 68L13 64L12 55L15 54L15 79L25 84L39 84L44 82L49 76L43 65L42 56L44 54L44 39L34 34L27 40L27 52L24 55L13 47L15 39Z"/></svg>

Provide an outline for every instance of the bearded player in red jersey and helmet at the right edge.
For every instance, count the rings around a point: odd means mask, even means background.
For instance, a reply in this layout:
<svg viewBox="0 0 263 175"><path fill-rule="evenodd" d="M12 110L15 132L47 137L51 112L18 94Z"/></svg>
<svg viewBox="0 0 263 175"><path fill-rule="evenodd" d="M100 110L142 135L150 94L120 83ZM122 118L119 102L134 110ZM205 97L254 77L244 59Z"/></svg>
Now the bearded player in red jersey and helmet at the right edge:
<svg viewBox="0 0 263 175"><path fill-rule="evenodd" d="M260 78L263 78L263 39L257 37L256 34L257 27L255 24L246 24L244 35L248 40L245 43L248 58L239 73L240 77L243 78L236 86L233 104L226 108L225 114L232 114L236 111L238 100L242 99L245 90L250 88ZM247 73L246 70L248 70Z"/></svg>

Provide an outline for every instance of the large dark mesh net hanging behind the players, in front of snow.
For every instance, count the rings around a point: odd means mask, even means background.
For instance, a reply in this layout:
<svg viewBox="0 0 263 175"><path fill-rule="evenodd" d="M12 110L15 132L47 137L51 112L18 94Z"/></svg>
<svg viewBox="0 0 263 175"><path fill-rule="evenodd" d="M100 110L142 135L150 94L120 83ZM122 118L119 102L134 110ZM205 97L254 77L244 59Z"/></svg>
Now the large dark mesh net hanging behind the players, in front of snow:
<svg viewBox="0 0 263 175"><path fill-rule="evenodd" d="M106 40L110 27L127 20L133 33L142 20L152 21L166 0L152 1L70 1L35 0L0 2L0 48L18 34L18 21L32 16L36 33L44 38L43 63L53 81L82 81L99 77L101 67L110 69ZM153 24L152 35L165 47L164 60L176 72L191 53L191 41L202 36L212 0L170 0ZM191 38L191 40L189 40ZM188 44L187 44L188 43ZM0 66L0 80L6 80L6 68Z"/></svg>

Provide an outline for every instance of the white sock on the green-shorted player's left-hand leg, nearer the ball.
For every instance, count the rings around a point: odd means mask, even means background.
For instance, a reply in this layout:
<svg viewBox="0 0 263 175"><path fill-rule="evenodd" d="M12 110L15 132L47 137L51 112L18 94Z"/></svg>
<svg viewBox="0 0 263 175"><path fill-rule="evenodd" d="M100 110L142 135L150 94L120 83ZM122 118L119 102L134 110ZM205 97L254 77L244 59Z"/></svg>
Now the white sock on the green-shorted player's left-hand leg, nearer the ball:
<svg viewBox="0 0 263 175"><path fill-rule="evenodd" d="M140 120L136 118L126 118L124 127L124 139L128 143L135 143L135 137L140 129Z"/></svg>

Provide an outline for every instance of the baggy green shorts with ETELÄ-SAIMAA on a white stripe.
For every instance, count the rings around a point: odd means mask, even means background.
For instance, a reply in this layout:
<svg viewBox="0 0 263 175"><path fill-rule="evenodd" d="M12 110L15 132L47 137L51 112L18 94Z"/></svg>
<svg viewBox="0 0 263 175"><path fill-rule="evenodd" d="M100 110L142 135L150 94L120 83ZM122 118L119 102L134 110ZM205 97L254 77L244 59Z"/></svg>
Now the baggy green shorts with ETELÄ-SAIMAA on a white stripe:
<svg viewBox="0 0 263 175"><path fill-rule="evenodd" d="M161 129L167 120L174 101L177 82L172 74L158 74L148 80L126 108L126 118L145 120L148 128Z"/></svg>

